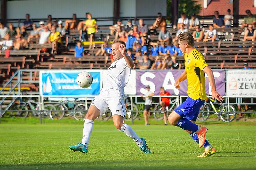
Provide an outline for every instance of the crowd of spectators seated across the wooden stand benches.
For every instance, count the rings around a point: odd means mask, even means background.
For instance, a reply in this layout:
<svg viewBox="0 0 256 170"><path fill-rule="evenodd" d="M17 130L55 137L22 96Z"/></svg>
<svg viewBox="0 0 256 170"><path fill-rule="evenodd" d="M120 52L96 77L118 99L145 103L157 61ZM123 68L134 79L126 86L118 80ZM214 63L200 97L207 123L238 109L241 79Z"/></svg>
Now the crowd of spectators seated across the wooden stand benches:
<svg viewBox="0 0 256 170"><path fill-rule="evenodd" d="M246 27L244 41L255 41L256 18L250 10L246 10L246 14L247 16L241 26L242 28ZM53 20L52 16L48 15L48 20L46 22L40 21L39 27L37 27L30 19L30 15L26 14L26 20L23 25L16 29L14 29L12 23L9 23L8 28L0 23L1 50L26 49L29 43L33 43L31 39L38 38L36 43L50 43L54 46L54 53L60 53L61 46L63 46L63 37L70 37L70 30L82 30L81 41L89 41L89 49L92 49L92 42L95 39L95 33L98 32L98 25L97 21L92 18L92 14L86 13L85 16L86 18L83 21L79 21L76 14L73 14L70 20L61 21L58 19ZM189 19L185 13L182 13L178 18L178 30L174 37L171 36L172 32L166 29L166 19L161 13L157 14L153 25L150 26L146 25L143 19L139 19L138 25L132 24L131 20L128 20L127 24L124 25L122 20L117 20L116 24L109 26L109 34L114 36L115 40L126 42L127 54L134 59L136 66L140 69L181 69L181 63L177 60L178 56L184 55L178 44L178 35L181 32L193 30L193 37L196 42L213 42L219 41L216 28L231 28L234 17L230 9L227 10L223 18L218 11L214 12L214 16L213 23L203 28L195 14L192 14ZM204 29L207 31L203 31ZM148 35L157 34L157 40L151 41L148 39ZM112 56L108 39L106 38L105 40L106 42L100 46L95 56ZM75 57L85 55L81 41L77 41L74 48ZM113 61L113 58L111 60Z"/></svg>

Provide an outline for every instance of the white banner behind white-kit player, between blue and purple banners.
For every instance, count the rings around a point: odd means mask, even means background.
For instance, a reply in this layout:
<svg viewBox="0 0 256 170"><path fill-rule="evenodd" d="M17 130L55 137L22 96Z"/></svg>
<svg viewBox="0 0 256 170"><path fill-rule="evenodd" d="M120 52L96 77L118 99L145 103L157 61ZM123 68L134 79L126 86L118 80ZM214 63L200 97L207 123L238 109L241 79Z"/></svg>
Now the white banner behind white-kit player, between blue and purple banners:
<svg viewBox="0 0 256 170"><path fill-rule="evenodd" d="M108 73L108 70L103 70L103 87L104 84L106 83L106 75ZM136 71L132 70L132 73L129 77L129 81L124 87L124 94L127 95L135 95L136 94Z"/></svg>

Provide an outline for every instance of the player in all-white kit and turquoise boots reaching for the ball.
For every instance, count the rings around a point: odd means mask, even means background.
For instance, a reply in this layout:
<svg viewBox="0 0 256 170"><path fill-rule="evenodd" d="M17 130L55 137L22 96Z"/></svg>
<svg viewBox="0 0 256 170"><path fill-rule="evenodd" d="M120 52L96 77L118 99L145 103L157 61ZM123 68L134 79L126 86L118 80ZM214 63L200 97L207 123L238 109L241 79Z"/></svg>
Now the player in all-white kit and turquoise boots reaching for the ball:
<svg viewBox="0 0 256 170"><path fill-rule="evenodd" d="M126 114L124 86L129 80L131 68L134 67L134 62L127 56L126 45L123 41L113 41L111 50L114 62L108 68L108 83L103 86L100 95L95 97L92 101L88 113L86 114L82 142L77 145L69 146L69 148L73 151L87 153L93 121L110 109L116 128L132 138L144 153L149 154L151 152L146 144L146 140L139 138L129 125L123 123Z"/></svg>

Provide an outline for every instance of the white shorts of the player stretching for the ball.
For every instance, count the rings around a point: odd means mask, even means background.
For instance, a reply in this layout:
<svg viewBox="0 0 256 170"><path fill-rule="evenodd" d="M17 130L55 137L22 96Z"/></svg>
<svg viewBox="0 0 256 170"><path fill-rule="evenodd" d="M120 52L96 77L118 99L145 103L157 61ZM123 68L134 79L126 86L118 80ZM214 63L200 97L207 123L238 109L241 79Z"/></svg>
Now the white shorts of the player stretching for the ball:
<svg viewBox="0 0 256 170"><path fill-rule="evenodd" d="M112 115L121 115L125 118L124 97L118 90L110 89L100 92L100 95L94 98L91 105L100 110L100 116L109 109Z"/></svg>

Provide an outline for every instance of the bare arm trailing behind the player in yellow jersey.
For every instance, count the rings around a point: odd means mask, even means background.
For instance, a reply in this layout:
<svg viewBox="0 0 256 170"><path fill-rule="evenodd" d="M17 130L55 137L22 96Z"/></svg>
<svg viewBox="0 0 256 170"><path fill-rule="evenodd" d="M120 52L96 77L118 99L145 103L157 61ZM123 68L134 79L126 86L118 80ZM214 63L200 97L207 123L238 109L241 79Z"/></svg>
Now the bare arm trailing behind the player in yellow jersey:
<svg viewBox="0 0 256 170"><path fill-rule="evenodd" d="M211 70L211 68L209 66L204 67L203 69L204 73L207 74L208 76L208 80L210 82L211 85L211 90L212 90L212 98L217 99L219 102L221 102L223 100L223 96L221 96L217 91L216 91L216 86L215 86L215 79L213 76L213 72Z"/></svg>

